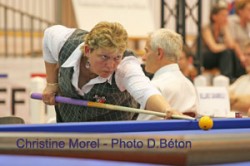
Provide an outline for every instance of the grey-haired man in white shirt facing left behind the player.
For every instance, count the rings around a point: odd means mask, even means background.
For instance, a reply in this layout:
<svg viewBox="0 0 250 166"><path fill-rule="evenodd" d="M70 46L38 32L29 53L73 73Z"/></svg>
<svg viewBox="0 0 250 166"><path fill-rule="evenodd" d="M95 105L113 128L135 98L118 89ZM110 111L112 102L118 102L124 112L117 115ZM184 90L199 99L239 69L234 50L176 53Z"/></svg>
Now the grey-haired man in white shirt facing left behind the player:
<svg viewBox="0 0 250 166"><path fill-rule="evenodd" d="M181 35L168 29L159 29L147 39L145 55L146 72L154 74L151 83L161 92L172 108L196 115L198 98L195 88L180 71L178 59L181 55ZM191 114L189 114L191 115ZM159 117L139 114L137 120L156 120Z"/></svg>

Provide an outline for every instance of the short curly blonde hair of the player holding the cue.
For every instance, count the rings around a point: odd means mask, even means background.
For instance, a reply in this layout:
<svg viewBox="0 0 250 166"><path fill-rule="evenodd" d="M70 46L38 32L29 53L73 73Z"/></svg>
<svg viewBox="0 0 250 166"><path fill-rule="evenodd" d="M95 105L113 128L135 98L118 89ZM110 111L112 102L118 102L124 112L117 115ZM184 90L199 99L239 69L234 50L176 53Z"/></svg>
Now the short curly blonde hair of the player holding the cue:
<svg viewBox="0 0 250 166"><path fill-rule="evenodd" d="M91 51L104 48L124 52L128 44L128 34L117 22L100 22L85 36L85 44Z"/></svg>

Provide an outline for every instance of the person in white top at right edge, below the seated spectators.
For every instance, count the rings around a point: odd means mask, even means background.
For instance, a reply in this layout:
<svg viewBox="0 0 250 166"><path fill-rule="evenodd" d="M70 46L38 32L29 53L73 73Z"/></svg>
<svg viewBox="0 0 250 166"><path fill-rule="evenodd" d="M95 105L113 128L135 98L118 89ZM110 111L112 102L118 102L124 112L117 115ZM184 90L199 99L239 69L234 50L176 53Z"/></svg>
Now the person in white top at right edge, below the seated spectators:
<svg viewBox="0 0 250 166"><path fill-rule="evenodd" d="M250 40L246 43L243 53L247 74L230 85L229 94L231 109L246 115L250 107Z"/></svg>

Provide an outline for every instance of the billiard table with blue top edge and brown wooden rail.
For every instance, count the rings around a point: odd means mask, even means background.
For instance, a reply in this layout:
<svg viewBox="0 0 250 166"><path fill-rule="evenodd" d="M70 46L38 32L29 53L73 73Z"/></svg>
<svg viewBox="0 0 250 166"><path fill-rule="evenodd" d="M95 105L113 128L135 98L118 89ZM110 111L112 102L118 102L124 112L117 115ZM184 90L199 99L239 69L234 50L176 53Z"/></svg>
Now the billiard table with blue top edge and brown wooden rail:
<svg viewBox="0 0 250 166"><path fill-rule="evenodd" d="M0 126L0 154L61 156L147 164L250 161L250 118L116 121Z"/></svg>

